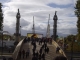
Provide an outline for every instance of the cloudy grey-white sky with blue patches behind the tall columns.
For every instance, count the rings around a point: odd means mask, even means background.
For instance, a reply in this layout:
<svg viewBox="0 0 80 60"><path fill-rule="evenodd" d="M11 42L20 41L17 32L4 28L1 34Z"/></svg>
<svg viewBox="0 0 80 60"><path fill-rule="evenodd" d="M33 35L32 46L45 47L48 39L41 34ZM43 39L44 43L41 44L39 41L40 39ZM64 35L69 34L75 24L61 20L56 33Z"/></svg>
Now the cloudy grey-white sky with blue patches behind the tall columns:
<svg viewBox="0 0 80 60"><path fill-rule="evenodd" d="M75 16L76 0L0 0L4 14L4 31L15 33L16 14L19 8L21 18L21 34L32 33L33 16L35 32L46 35L50 14L50 34L53 34L53 16L57 11L57 34L67 36L77 34Z"/></svg>

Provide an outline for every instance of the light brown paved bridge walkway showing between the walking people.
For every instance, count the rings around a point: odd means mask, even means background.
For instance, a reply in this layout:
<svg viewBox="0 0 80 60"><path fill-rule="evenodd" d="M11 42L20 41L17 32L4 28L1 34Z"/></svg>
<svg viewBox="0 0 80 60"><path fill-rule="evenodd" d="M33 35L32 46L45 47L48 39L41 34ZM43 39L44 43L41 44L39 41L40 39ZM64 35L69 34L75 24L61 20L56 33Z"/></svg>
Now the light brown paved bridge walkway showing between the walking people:
<svg viewBox="0 0 80 60"><path fill-rule="evenodd" d="M37 42L36 45L37 45L36 46L36 51L39 51L40 47L42 45L39 45L39 42ZM59 53L56 53L56 47L54 45L51 45L51 44L47 44L47 45L49 47L49 53L45 55L45 60L53 60L54 57L61 55ZM25 57L24 59L21 58L21 59L18 59L18 60L32 60L32 48L33 48L33 46L31 45L31 42L30 43L24 43L22 45L21 50L24 49L25 51L27 51L28 48L30 48L30 55L29 55L29 57L27 59Z"/></svg>

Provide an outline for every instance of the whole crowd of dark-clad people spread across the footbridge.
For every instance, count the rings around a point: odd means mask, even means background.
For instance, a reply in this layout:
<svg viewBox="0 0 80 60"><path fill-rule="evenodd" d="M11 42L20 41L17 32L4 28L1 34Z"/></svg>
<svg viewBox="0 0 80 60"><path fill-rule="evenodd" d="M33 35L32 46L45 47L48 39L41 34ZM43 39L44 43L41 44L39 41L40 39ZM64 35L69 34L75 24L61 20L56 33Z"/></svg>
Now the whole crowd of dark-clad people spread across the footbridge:
<svg viewBox="0 0 80 60"><path fill-rule="evenodd" d="M49 53L49 47L47 46L47 43L49 43L50 41L46 38L27 38L26 37L24 39L24 43L31 43L31 45L33 46L32 60L45 60L46 54ZM41 46L39 50L37 50L36 42L38 43L38 45ZM60 48L57 47L56 53L58 53L59 50L60 50ZM28 48L27 51L25 51L24 49L22 51L19 51L20 59L21 59L21 57L23 59L26 57L26 59L27 59L29 56L30 56L30 48ZM55 60L57 60L57 58Z"/></svg>

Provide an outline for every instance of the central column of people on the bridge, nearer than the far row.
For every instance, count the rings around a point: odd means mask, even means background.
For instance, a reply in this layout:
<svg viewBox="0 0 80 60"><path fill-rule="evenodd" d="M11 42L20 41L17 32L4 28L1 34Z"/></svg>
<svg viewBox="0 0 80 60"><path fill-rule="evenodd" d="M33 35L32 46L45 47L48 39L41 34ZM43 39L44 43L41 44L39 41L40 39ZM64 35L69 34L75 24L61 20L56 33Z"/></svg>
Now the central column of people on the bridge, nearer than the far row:
<svg viewBox="0 0 80 60"><path fill-rule="evenodd" d="M42 44L43 43L43 44ZM49 48L47 46L47 42L46 41L43 41L43 42L40 42L39 41L39 45L41 45L39 51L36 52L36 42L35 41L32 41L31 43L33 45L33 57L32 57L32 60L45 60L45 55L46 53L48 54L49 52Z"/></svg>

